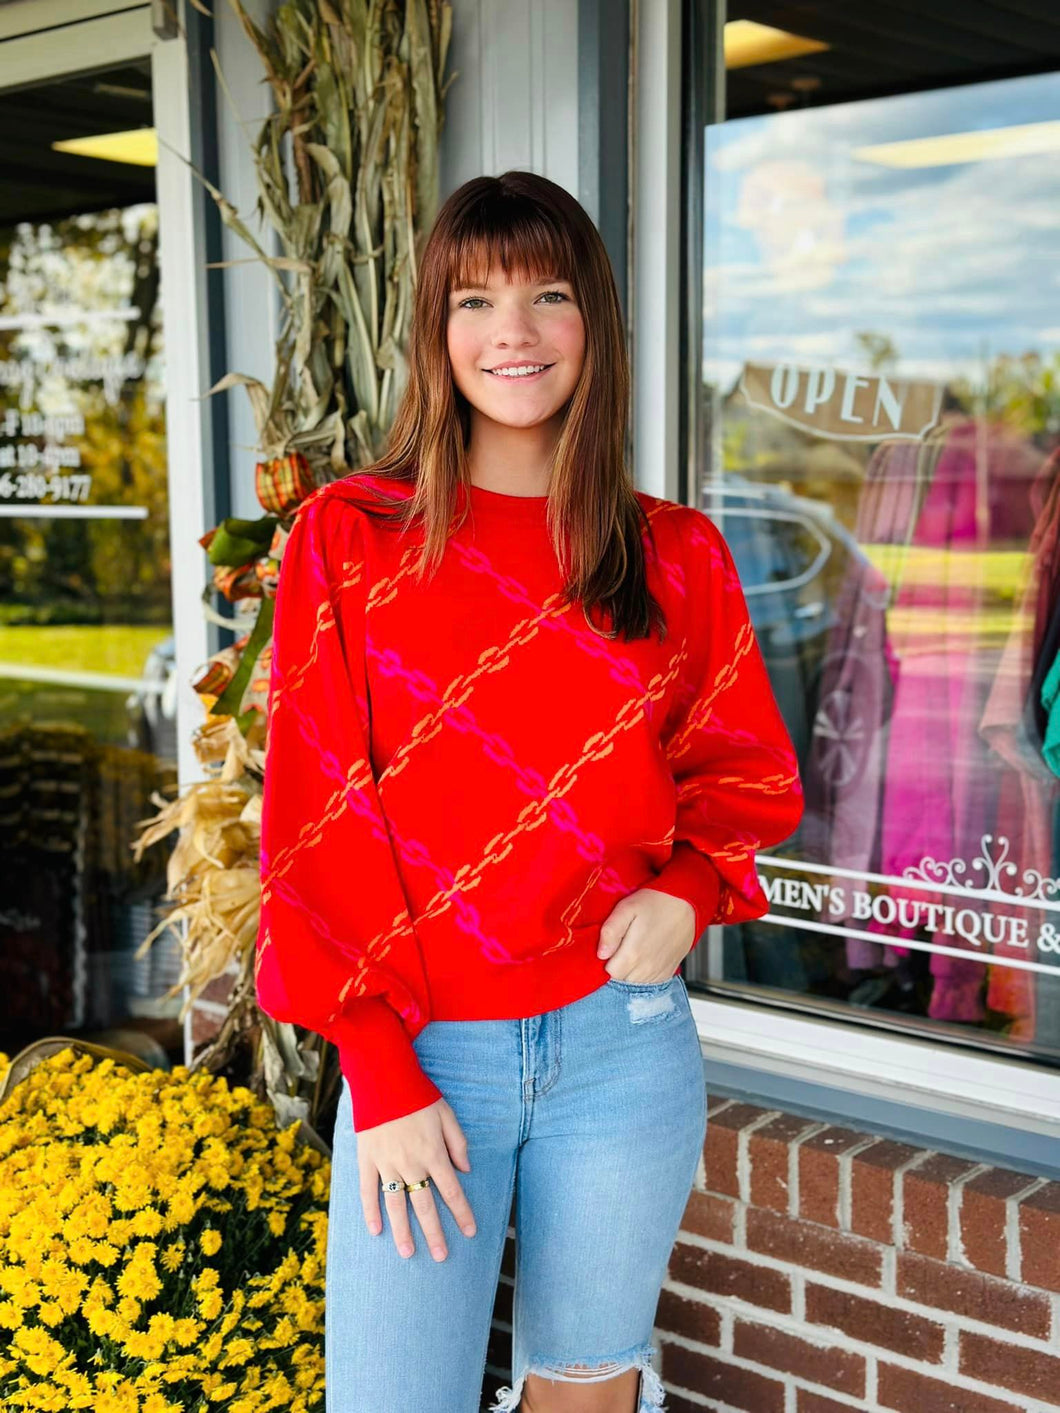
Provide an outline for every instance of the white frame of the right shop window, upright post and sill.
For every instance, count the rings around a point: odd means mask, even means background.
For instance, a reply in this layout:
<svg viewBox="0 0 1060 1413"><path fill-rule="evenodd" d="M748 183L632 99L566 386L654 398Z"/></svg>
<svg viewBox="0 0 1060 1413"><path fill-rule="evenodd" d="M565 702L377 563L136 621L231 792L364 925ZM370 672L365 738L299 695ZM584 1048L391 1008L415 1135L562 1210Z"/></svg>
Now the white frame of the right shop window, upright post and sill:
<svg viewBox="0 0 1060 1413"><path fill-rule="evenodd" d="M681 27L681 0L633 0L633 455L637 485L670 500L680 499L687 376L676 353L685 318L678 297L685 239ZM694 290L691 298L701 301L701 294ZM695 454L693 445L690 456ZM697 479L690 476L693 485ZM700 947L717 945L719 931L711 928ZM693 995L691 1009L708 1078L711 1063L732 1064L1060 1139L1060 1071L1033 1060L731 998Z"/></svg>

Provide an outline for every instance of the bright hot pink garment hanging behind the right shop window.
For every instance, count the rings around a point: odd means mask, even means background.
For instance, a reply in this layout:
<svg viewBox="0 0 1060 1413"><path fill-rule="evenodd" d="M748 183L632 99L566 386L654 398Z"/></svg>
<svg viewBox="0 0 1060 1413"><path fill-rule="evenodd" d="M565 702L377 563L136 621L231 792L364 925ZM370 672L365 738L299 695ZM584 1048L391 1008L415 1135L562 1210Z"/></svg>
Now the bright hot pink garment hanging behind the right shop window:
<svg viewBox="0 0 1060 1413"><path fill-rule="evenodd" d="M916 557L890 605L889 633L902 666L888 742L879 870L892 877L923 870L920 876L953 882L962 870L971 876L999 804L996 756L978 732L992 684L978 644L989 595L982 551L1026 543L1032 530L1027 487L1040 456L1003 430L972 420L948 424L943 438L907 543L947 552L937 562ZM886 486L878 499L886 502ZM907 485L897 485L893 506L893 538L902 543L897 512L914 510ZM960 897L900 886L892 886L890 894L920 903ZM912 937L917 927L871 923L868 931ZM974 951L954 930L938 928L933 938ZM930 971L933 1019L985 1019L979 957L933 952Z"/></svg>

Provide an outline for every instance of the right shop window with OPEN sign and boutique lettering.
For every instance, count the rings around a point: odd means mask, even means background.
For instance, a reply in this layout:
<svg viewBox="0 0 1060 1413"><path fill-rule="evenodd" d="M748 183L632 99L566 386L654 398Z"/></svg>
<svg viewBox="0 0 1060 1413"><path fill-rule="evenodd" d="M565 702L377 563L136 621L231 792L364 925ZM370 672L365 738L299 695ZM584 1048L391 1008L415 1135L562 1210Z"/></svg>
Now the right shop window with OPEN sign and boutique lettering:
<svg viewBox="0 0 1060 1413"><path fill-rule="evenodd" d="M1060 1061L1060 25L734 4L697 503L806 814L690 983ZM1052 18L1049 17L1052 16ZM1043 58L1049 34L1052 59Z"/></svg>

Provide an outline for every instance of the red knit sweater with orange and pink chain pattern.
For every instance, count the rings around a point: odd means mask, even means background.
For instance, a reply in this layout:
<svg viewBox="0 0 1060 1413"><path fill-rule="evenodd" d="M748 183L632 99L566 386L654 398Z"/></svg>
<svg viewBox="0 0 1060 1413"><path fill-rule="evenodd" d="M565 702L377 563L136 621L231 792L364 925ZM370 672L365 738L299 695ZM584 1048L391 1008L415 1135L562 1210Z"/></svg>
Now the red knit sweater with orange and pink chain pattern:
<svg viewBox="0 0 1060 1413"><path fill-rule="evenodd" d="M283 551L257 937L261 1009L335 1041L358 1132L441 1096L413 1047L430 1020L602 986L599 926L628 893L687 899L697 938L760 917L755 851L803 810L702 512L636 493L669 636L628 643L563 602L546 496L473 486L417 584L423 533L366 514L366 480L314 492Z"/></svg>

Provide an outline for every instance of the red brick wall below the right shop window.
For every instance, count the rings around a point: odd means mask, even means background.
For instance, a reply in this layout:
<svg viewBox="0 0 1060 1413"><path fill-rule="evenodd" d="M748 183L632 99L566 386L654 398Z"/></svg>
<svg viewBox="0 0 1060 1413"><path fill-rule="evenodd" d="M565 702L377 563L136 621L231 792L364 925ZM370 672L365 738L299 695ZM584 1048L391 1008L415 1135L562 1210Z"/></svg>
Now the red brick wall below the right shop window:
<svg viewBox="0 0 1060 1413"><path fill-rule="evenodd" d="M670 1413L1056 1413L1060 1183L711 1096Z"/></svg>

